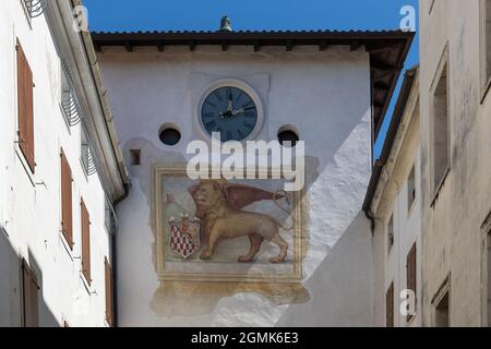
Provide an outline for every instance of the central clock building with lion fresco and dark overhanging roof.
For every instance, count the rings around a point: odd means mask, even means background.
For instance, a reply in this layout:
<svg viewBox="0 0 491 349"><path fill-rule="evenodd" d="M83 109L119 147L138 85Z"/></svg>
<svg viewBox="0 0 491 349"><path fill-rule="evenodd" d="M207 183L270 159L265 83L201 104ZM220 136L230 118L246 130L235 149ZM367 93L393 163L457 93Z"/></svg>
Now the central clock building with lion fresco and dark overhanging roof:
<svg viewBox="0 0 491 349"><path fill-rule="evenodd" d="M373 252L361 205L373 136L411 38L402 32L93 34L132 182L118 206L120 325L373 324L374 272L367 263ZM242 108L252 111L246 119ZM275 194L283 179L185 179L195 155L188 154L190 142L209 145L208 132L219 129L239 142L304 141L304 189L288 194L288 204ZM225 197L225 218L206 210L215 194ZM275 237L262 245L260 237L260 246L250 237L249 254L237 260L248 251L246 236L221 239L208 253L207 215L244 212L282 222L287 248L279 243L279 255ZM251 224L221 221L237 231Z"/></svg>

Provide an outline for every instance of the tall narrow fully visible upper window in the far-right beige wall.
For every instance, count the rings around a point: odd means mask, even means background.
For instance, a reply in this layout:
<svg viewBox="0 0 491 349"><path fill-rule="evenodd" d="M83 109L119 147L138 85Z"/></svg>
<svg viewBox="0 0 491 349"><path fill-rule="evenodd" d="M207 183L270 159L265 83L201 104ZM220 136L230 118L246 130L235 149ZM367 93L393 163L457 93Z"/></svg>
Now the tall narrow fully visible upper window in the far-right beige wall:
<svg viewBox="0 0 491 349"><path fill-rule="evenodd" d="M443 68L433 95L433 188L436 193L448 170L447 65Z"/></svg>

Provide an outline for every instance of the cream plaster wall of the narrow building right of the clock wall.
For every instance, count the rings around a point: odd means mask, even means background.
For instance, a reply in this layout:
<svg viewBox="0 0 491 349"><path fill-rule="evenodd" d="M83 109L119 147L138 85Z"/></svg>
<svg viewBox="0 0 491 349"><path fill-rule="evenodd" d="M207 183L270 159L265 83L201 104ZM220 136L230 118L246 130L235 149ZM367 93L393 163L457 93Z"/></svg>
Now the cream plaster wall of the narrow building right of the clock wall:
<svg viewBox="0 0 491 349"><path fill-rule="evenodd" d="M421 326L422 304L422 240L421 240L421 148L419 143L419 86L415 77L409 98L387 164L379 180L378 193L372 202L375 215L373 232L375 274L375 326L386 326L386 291L394 282L394 326ZM408 178L415 168L416 201L409 209ZM380 197L378 197L380 195ZM373 207L376 206L376 207ZM393 216L394 244L388 246L388 221ZM416 316L407 322L400 306L406 298L407 255L417 244Z"/></svg>

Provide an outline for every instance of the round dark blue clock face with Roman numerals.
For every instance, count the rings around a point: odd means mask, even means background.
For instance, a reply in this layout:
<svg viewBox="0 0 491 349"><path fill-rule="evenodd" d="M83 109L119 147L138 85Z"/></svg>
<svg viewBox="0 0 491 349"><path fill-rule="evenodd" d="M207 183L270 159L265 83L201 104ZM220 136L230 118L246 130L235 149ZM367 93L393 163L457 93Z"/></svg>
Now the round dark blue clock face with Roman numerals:
<svg viewBox="0 0 491 349"><path fill-rule="evenodd" d="M244 91L226 86L206 96L201 122L206 132L219 132L221 142L243 141L258 125L258 106Z"/></svg>

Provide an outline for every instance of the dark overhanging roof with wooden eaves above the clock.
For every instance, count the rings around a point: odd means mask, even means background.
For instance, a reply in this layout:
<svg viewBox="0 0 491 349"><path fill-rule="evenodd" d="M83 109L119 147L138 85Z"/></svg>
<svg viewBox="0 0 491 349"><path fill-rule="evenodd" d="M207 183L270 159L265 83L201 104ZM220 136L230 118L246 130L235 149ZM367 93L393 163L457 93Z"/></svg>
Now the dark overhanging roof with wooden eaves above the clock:
<svg viewBox="0 0 491 349"><path fill-rule="evenodd" d="M263 46L280 46L286 51L296 46L314 45L320 51L330 46L346 45L355 51L364 48L370 53L374 135L379 134L397 85L400 71L409 52L415 33L403 31L238 31L238 32L95 32L95 49L122 46L132 52L135 47L188 46L193 51L200 45L217 45L223 51L230 46L251 46L260 51Z"/></svg>

